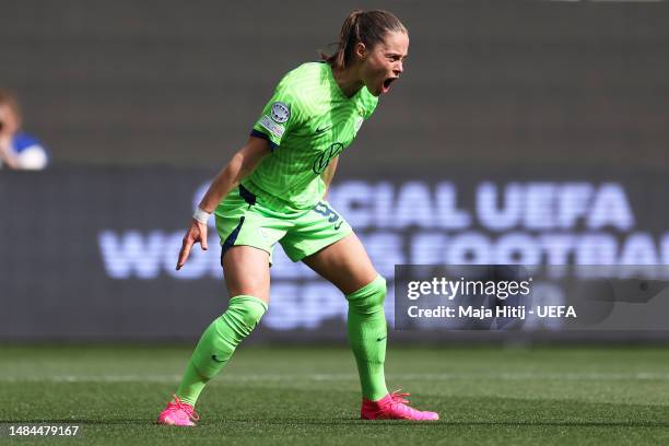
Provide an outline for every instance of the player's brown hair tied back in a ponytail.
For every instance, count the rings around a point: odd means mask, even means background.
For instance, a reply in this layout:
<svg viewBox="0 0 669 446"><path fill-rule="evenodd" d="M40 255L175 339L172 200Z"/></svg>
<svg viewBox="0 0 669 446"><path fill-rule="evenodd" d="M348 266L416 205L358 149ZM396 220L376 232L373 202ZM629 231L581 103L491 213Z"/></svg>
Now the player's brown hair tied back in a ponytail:
<svg viewBox="0 0 669 446"><path fill-rule="evenodd" d="M388 11L355 9L341 26L339 42L336 44L337 50L330 56L321 52L320 57L332 67L348 68L353 63L355 45L359 42L372 50L389 32L407 33L407 28Z"/></svg>

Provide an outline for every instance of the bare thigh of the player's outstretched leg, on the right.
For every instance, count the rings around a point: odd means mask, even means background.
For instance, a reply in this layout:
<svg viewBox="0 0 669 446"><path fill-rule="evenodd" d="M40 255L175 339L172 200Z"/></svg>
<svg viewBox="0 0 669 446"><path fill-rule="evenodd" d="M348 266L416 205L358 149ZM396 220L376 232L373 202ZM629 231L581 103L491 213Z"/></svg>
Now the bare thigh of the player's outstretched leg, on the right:
<svg viewBox="0 0 669 446"><path fill-rule="evenodd" d="M360 290L378 275L365 247L354 233L305 257L302 261L332 282L344 294Z"/></svg>

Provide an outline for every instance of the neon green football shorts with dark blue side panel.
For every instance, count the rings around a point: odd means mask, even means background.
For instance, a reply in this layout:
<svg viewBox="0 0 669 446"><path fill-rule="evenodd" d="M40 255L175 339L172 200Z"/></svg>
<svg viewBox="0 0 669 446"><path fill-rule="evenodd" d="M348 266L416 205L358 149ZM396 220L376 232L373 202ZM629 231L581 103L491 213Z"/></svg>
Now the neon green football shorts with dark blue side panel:
<svg viewBox="0 0 669 446"><path fill-rule="evenodd" d="M271 265L277 242L291 260L298 261L353 232L327 201L308 210L275 210L263 206L262 197L256 197L244 186L225 197L215 215L221 262L232 246L246 245L267 251Z"/></svg>

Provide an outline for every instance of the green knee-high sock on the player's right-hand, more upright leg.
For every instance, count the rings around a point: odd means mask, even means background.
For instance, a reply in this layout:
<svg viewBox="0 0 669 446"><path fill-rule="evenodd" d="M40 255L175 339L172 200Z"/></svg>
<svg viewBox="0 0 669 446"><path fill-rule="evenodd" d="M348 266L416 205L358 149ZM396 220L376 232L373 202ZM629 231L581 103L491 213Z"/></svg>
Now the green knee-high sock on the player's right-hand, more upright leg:
<svg viewBox="0 0 669 446"><path fill-rule="evenodd" d="M384 363L388 329L384 313L386 280L372 283L347 295L349 301L349 343L355 355L363 397L379 400L388 394Z"/></svg>

